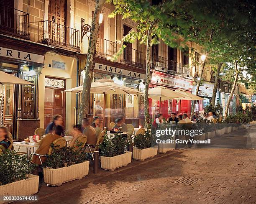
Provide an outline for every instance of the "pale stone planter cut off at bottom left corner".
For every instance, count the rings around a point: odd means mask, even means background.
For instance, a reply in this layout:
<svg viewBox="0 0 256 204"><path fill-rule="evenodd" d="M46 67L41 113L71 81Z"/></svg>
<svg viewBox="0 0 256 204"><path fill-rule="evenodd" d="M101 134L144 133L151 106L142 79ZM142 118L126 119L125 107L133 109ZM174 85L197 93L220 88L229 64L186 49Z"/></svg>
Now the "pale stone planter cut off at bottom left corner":
<svg viewBox="0 0 256 204"><path fill-rule="evenodd" d="M28 179L0 186L0 204L11 202L4 201L3 196L31 196L36 194L38 191L39 176L32 174L28 176Z"/></svg>

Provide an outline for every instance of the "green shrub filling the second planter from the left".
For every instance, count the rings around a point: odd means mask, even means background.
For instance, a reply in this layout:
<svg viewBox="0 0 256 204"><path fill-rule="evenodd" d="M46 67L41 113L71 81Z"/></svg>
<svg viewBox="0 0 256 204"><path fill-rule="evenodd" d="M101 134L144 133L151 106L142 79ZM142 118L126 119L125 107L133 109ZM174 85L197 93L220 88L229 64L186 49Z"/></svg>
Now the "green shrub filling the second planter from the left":
<svg viewBox="0 0 256 204"><path fill-rule="evenodd" d="M73 147L58 148L51 144L52 153L47 156L43 167L56 169L86 161L88 159L87 154L84 152L84 148L82 148L81 145L82 143L79 144L79 147L75 150Z"/></svg>

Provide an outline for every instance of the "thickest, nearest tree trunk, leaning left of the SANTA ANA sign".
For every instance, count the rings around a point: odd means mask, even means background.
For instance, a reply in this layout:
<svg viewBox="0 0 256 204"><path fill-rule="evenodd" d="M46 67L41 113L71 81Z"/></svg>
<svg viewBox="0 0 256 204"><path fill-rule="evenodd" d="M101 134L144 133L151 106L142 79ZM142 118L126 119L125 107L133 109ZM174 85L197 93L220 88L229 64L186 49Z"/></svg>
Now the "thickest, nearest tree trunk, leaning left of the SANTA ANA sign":
<svg viewBox="0 0 256 204"><path fill-rule="evenodd" d="M106 0L96 0L95 12L92 18L92 28L91 35L89 40L89 47L87 52L87 60L85 64L85 77L83 92L81 98L81 104L79 108L79 123L81 124L82 119L87 117L90 108L90 89L92 84L92 75L95 67L95 54L96 54L96 43L97 43L97 34L99 31L99 16L102 10L103 5ZM103 118L104 120L104 118Z"/></svg>

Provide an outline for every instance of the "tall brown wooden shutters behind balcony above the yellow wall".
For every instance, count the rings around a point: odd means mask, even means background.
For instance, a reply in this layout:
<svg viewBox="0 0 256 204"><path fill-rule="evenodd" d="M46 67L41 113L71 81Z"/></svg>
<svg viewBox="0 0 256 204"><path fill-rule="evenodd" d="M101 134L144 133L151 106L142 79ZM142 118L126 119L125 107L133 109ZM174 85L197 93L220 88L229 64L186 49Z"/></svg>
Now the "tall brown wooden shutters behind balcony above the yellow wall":
<svg viewBox="0 0 256 204"><path fill-rule="evenodd" d="M67 0L50 0L48 5L48 33L60 42L67 40Z"/></svg>

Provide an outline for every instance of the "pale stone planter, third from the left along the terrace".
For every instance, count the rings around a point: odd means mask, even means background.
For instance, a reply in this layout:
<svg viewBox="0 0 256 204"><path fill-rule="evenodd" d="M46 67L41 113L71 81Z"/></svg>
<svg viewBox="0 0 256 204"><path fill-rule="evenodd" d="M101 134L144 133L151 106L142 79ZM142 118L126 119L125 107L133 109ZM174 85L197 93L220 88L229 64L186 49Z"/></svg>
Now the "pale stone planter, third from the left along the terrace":
<svg viewBox="0 0 256 204"><path fill-rule="evenodd" d="M116 168L127 166L131 163L132 152L126 152L113 157L100 157L101 168L109 171L114 171Z"/></svg>

